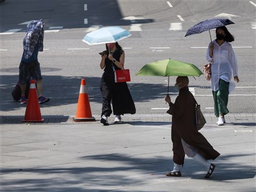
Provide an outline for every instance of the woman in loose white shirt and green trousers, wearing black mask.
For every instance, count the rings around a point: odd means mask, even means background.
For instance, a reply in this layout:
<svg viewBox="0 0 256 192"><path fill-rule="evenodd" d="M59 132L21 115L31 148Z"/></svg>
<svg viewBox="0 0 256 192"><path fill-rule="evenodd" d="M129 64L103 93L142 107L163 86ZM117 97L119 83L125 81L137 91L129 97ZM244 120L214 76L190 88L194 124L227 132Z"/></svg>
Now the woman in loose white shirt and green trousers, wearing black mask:
<svg viewBox="0 0 256 192"><path fill-rule="evenodd" d="M206 59L212 62L211 90L215 104L215 115L218 117L218 126L226 123L224 115L229 113L227 102L229 93L233 91L238 78L238 65L235 52L229 42L234 41L233 36L225 26L216 29L216 40L212 41L207 49Z"/></svg>

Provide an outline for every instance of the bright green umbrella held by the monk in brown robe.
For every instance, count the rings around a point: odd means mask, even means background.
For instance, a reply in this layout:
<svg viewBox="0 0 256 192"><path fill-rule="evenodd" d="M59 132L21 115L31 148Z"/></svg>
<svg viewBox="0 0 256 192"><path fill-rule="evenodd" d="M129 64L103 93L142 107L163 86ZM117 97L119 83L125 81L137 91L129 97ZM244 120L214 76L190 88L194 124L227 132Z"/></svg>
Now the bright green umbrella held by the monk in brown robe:
<svg viewBox="0 0 256 192"><path fill-rule="evenodd" d="M136 76L201 76L202 71L191 63L180 62L172 59L159 60L148 63L138 71ZM168 78L169 93L169 78Z"/></svg>

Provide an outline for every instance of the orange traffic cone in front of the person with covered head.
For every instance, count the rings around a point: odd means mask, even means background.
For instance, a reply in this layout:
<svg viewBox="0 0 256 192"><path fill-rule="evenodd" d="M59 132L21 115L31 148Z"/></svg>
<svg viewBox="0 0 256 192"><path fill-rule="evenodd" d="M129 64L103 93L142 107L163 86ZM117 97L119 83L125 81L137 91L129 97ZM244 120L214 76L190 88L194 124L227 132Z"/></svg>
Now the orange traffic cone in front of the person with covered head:
<svg viewBox="0 0 256 192"><path fill-rule="evenodd" d="M43 120L44 119L41 118L35 80L30 80L29 98L27 100L26 113L23 122L42 122Z"/></svg>

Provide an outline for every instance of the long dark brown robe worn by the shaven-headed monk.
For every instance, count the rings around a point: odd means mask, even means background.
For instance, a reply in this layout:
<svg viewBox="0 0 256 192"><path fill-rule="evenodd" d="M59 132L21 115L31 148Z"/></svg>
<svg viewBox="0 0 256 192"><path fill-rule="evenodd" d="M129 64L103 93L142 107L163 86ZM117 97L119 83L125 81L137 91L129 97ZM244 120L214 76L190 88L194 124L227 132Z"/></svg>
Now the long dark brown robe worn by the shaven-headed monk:
<svg viewBox="0 0 256 192"><path fill-rule="evenodd" d="M174 163L179 165L184 163L185 152L181 139L196 148L207 160L217 158L219 152L215 151L196 129L196 101L188 87L180 89L176 101L174 104L170 103L169 107L168 113L172 115L171 139Z"/></svg>

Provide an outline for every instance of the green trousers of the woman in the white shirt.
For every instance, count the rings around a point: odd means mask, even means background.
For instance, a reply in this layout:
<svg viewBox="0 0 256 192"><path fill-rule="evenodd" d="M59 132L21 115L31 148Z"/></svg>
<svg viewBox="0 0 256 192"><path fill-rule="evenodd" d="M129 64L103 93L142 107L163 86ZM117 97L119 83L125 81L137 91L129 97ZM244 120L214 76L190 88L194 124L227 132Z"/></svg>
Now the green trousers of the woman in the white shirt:
<svg viewBox="0 0 256 192"><path fill-rule="evenodd" d="M219 117L220 114L226 115L229 113L227 109L227 102L229 101L229 82L219 79L219 90L212 92L216 117Z"/></svg>

